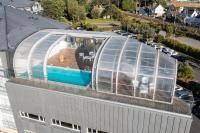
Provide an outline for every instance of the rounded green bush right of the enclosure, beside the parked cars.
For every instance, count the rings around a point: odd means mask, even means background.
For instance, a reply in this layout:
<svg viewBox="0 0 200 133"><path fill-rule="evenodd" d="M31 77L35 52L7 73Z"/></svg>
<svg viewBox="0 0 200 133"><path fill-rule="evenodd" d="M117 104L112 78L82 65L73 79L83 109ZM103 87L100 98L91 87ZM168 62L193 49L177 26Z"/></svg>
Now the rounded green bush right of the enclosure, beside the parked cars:
<svg viewBox="0 0 200 133"><path fill-rule="evenodd" d="M178 78L183 79L185 82L194 79L194 70L186 63L179 64Z"/></svg>

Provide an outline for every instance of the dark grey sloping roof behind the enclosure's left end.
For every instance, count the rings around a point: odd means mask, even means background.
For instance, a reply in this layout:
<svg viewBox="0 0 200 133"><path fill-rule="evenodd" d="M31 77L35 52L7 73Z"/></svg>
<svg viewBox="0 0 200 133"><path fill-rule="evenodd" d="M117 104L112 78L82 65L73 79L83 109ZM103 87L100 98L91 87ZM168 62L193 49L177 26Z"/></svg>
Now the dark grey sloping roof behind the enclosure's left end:
<svg viewBox="0 0 200 133"><path fill-rule="evenodd" d="M27 36L41 29L69 29L68 25L55 20L21 11L8 6L0 5L0 50L6 50L5 33L7 26L8 46L15 49L16 46ZM6 26L5 26L6 23Z"/></svg>

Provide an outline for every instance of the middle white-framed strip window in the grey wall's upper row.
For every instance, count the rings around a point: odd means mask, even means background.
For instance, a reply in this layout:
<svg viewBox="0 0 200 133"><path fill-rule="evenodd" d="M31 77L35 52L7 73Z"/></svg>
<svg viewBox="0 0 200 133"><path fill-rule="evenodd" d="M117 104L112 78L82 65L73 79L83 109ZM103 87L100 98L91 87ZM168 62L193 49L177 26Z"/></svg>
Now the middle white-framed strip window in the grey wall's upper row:
<svg viewBox="0 0 200 133"><path fill-rule="evenodd" d="M75 131L81 131L81 126L76 125L76 124L72 124L72 123L68 123L68 122L64 122L64 121L59 121L56 119L51 119L51 123L54 126L59 126L59 127L63 127L63 128L68 128L68 129L72 129Z"/></svg>

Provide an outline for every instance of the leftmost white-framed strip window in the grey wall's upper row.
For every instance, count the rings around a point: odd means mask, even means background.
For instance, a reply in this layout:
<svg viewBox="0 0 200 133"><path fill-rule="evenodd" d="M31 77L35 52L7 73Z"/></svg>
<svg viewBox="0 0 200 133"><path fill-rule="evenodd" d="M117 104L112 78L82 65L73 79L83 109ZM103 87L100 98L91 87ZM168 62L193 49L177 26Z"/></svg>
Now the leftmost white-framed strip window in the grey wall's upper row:
<svg viewBox="0 0 200 133"><path fill-rule="evenodd" d="M40 122L45 122L45 118L43 116L31 114L31 113L26 113L26 112L20 112L20 116Z"/></svg>

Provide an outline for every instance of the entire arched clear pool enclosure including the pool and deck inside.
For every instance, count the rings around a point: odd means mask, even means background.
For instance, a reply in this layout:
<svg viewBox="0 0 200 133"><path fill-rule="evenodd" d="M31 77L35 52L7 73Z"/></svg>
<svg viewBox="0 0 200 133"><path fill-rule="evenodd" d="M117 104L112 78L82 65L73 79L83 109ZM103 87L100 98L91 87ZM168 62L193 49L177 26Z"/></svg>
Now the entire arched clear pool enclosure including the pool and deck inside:
<svg viewBox="0 0 200 133"><path fill-rule="evenodd" d="M171 103L177 62L136 39L48 29L19 44L13 67L16 77Z"/></svg>

